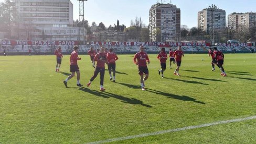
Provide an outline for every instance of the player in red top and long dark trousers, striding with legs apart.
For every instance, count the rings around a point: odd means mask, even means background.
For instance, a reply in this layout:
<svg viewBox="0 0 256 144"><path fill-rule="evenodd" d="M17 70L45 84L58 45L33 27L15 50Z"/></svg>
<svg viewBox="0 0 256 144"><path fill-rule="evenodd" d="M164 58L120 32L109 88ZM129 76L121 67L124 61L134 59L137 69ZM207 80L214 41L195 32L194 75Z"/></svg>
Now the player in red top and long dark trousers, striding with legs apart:
<svg viewBox="0 0 256 144"><path fill-rule="evenodd" d="M90 81L87 83L87 87L91 85L91 82L98 76L100 73L100 91L104 91L103 87L104 75L105 75L105 63L108 63L106 59L106 55L104 54L104 47L101 47L100 53L98 53L93 59L93 65L95 65L95 61L97 61L97 66L94 70L94 75L91 77Z"/></svg>

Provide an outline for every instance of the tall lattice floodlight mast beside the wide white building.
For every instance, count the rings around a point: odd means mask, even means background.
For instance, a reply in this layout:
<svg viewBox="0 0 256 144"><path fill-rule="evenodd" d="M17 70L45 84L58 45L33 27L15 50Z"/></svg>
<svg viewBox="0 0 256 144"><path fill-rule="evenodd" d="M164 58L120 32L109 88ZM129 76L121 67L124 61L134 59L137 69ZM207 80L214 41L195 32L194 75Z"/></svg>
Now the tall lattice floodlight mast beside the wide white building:
<svg viewBox="0 0 256 144"><path fill-rule="evenodd" d="M84 1L87 0L77 0L79 1L79 22L82 22L79 27L79 37L78 39L80 41L85 40L84 39Z"/></svg>

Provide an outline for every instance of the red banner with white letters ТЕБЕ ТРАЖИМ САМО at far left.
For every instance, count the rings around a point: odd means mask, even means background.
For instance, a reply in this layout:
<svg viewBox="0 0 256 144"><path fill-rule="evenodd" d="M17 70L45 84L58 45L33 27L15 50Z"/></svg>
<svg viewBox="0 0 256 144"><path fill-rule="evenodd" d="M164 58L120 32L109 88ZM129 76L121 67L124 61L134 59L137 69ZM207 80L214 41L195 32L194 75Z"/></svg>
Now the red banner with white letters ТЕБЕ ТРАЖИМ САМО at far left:
<svg viewBox="0 0 256 144"><path fill-rule="evenodd" d="M24 41L2 40L2 45L78 45L79 41Z"/></svg>

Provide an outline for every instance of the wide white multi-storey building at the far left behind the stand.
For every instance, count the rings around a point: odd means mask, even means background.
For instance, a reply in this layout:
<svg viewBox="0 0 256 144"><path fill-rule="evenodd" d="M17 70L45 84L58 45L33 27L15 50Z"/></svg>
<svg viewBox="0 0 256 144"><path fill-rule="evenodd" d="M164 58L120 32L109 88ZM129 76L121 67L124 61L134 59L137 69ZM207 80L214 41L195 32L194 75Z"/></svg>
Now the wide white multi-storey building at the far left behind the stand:
<svg viewBox="0 0 256 144"><path fill-rule="evenodd" d="M69 0L13 0L20 17L20 38L28 40L78 40ZM84 34L86 30L83 30Z"/></svg>

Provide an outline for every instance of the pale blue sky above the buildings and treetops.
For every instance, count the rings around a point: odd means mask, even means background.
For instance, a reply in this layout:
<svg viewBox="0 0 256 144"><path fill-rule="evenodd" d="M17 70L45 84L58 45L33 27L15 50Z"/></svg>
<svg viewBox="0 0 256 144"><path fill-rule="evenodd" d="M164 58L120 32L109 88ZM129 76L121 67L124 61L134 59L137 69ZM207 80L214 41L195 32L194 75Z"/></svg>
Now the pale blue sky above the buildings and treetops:
<svg viewBox="0 0 256 144"><path fill-rule="evenodd" d="M73 4L73 19L79 19L79 1L70 1ZM161 3L161 0L158 2ZM120 25L130 27L132 19L141 17L143 23L148 25L149 10L156 3L157 0L88 0L84 2L84 19L89 21L89 25L95 21L97 25L103 22L109 27L119 20ZM162 0L162 3L170 3L170 0ZM256 13L255 0L172 0L171 3L180 8L181 25L186 25L188 28L197 27L198 11L208 8L211 4L226 10L226 17L233 12Z"/></svg>

